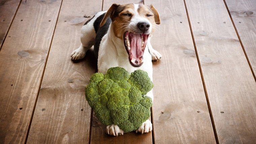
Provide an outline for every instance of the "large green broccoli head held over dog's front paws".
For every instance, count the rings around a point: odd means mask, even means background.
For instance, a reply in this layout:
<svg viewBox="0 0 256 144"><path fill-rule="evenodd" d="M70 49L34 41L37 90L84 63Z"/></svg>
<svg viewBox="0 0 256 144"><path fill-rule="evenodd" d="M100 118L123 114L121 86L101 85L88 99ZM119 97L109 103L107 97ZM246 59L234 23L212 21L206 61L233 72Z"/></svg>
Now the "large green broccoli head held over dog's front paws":
<svg viewBox="0 0 256 144"><path fill-rule="evenodd" d="M104 125L116 124L124 132L136 130L151 115L153 88L148 73L113 67L107 73L95 73L85 87L85 97L96 117Z"/></svg>

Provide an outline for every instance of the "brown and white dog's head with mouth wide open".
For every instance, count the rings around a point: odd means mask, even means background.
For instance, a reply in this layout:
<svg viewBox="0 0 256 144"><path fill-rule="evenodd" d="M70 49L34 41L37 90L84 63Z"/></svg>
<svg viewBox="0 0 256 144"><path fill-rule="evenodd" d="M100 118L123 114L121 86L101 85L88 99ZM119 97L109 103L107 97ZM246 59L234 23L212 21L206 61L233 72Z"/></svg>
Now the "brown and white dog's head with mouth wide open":
<svg viewBox="0 0 256 144"><path fill-rule="evenodd" d="M153 5L113 4L106 12L100 26L110 17L115 36L124 41L132 66L143 64L143 53L154 26L160 24L160 18Z"/></svg>

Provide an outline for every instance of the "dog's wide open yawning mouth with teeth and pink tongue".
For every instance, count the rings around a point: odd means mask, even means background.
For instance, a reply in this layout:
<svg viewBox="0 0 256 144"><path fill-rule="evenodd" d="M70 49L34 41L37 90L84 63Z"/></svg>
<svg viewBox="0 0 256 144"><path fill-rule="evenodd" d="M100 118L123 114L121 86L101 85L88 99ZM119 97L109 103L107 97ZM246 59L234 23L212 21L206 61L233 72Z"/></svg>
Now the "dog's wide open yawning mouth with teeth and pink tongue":
<svg viewBox="0 0 256 144"><path fill-rule="evenodd" d="M143 53L147 45L149 34L138 34L126 31L123 36L124 46L129 55L132 66L139 67L143 64Z"/></svg>

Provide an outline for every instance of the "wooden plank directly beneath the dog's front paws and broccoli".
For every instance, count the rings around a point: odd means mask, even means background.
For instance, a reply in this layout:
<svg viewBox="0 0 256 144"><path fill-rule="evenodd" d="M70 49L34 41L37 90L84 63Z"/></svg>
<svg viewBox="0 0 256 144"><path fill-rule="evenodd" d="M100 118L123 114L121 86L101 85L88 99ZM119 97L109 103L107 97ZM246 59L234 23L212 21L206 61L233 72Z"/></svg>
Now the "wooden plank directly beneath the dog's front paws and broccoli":
<svg viewBox="0 0 256 144"><path fill-rule="evenodd" d="M127 1L124 0L104 0L103 10L107 10L113 3L125 4ZM133 0L129 3L142 3L143 1ZM152 143L152 133L137 134L135 132L125 133L123 136L109 136L106 134L106 126L101 124L100 121L93 114L92 129L91 129L91 144L105 144L105 143Z"/></svg>

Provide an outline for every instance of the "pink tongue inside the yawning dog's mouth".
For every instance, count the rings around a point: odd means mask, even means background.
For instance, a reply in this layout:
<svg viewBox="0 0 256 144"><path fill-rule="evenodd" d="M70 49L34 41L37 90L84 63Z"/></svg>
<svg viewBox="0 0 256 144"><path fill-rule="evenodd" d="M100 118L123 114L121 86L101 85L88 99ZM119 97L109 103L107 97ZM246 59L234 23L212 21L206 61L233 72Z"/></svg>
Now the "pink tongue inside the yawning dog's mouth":
<svg viewBox="0 0 256 144"><path fill-rule="evenodd" d="M140 34L129 32L131 55L130 59L134 59L135 63L139 64L143 60L143 46L141 46L142 40ZM136 62L137 61L137 62Z"/></svg>

